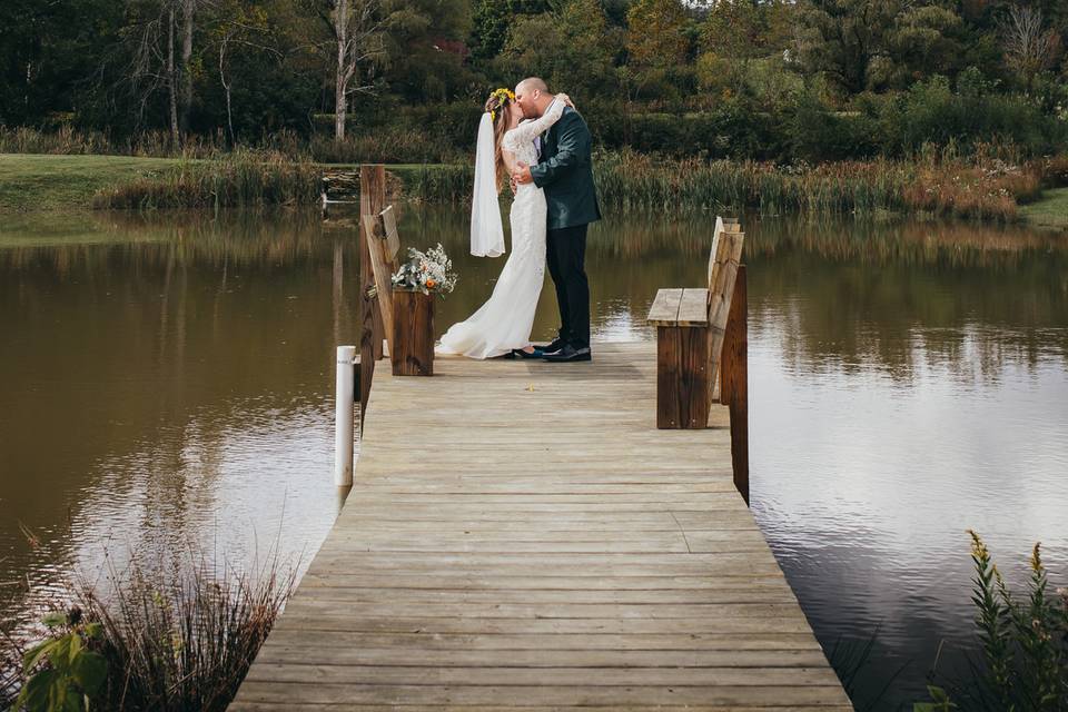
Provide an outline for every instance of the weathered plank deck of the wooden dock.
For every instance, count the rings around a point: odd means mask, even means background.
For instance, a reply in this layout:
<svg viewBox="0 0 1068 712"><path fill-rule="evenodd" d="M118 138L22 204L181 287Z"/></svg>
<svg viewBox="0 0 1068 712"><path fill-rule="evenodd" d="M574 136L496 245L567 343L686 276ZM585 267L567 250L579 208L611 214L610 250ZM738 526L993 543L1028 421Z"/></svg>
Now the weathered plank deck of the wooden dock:
<svg viewBox="0 0 1068 712"><path fill-rule="evenodd" d="M851 710L655 345L378 362L355 486L231 710Z"/></svg>

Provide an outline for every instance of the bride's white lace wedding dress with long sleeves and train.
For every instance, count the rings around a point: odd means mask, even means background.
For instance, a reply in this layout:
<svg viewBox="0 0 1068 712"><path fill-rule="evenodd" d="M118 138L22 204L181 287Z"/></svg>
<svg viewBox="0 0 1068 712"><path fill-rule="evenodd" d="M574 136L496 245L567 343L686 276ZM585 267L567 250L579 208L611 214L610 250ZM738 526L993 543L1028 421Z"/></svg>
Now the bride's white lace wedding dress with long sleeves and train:
<svg viewBox="0 0 1068 712"><path fill-rule="evenodd" d="M537 162L534 138L560 119L564 103L556 101L545 115L524 121L502 138L502 148L530 166ZM531 345L534 310L545 281L545 194L533 182L523 184L512 201L512 254L501 270L490 299L465 322L442 337L438 354L493 358Z"/></svg>

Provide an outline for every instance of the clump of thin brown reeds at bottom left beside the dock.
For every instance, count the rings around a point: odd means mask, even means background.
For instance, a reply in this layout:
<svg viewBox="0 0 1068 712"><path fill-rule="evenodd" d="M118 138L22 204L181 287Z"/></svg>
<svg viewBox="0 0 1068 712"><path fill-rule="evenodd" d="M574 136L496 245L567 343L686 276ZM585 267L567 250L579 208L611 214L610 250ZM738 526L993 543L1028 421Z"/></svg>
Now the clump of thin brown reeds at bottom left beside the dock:
<svg viewBox="0 0 1068 712"><path fill-rule="evenodd" d="M276 554L251 573L190 554L151 566L135 561L121 574L111 572L108 590L76 584L67 594L72 614L62 616L69 624L91 622L99 629L87 644L103 657L107 671L91 708L222 712L293 593L295 571L284 568ZM48 669L43 661L26 672L32 676ZM8 683L0 698L7 694L10 703L16 681Z"/></svg>

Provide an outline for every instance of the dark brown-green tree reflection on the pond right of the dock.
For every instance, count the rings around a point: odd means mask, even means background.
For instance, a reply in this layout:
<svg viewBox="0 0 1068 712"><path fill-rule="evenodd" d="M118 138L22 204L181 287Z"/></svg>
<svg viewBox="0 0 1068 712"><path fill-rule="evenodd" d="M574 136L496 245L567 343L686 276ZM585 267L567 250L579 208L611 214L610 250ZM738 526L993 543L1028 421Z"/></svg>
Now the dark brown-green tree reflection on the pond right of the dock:
<svg viewBox="0 0 1068 712"><path fill-rule="evenodd" d="M1056 238L904 226L762 233L750 248L752 328L775 332L805 369L997 379L1009 362L1068 360L1068 249Z"/></svg>

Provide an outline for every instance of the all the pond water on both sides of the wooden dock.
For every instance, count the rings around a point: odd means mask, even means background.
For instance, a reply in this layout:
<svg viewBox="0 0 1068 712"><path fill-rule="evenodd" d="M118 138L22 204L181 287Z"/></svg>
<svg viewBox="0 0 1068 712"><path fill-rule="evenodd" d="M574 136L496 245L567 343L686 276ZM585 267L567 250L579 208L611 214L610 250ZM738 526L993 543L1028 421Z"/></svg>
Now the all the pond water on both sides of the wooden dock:
<svg viewBox="0 0 1068 712"><path fill-rule="evenodd" d="M595 339L651 339L700 286L711 217L591 233ZM481 304L500 260L462 209L402 209ZM969 541L1022 583L1068 577L1068 240L1020 228L745 220L753 511L860 709L923 695L972 644ZM198 547L304 565L332 485L334 346L356 338L355 239L317 215L0 222L0 621L72 571ZM552 289L535 336L555 326ZM910 708L909 708L910 709Z"/></svg>

